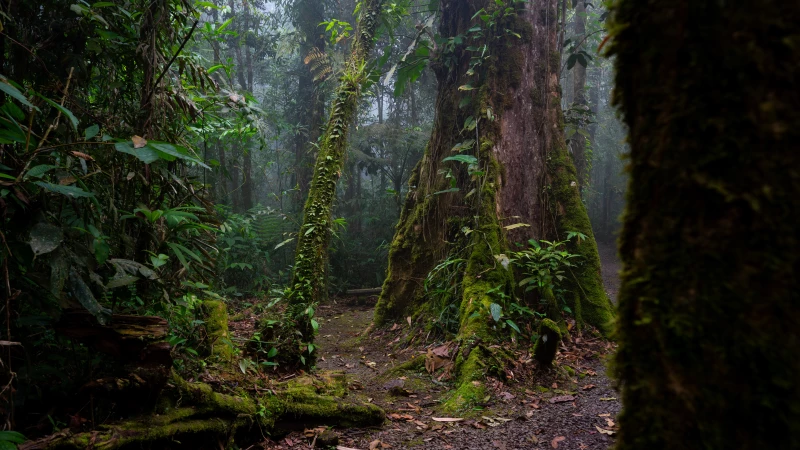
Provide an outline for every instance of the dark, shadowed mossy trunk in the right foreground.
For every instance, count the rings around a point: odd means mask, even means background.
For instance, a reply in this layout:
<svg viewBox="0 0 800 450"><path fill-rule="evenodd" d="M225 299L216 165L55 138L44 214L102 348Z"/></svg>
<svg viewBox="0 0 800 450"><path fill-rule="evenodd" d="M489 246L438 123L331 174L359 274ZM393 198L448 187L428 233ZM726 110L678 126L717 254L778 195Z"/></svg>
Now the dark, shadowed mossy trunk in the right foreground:
<svg viewBox="0 0 800 450"><path fill-rule="evenodd" d="M800 3L619 0L617 449L800 448Z"/></svg>

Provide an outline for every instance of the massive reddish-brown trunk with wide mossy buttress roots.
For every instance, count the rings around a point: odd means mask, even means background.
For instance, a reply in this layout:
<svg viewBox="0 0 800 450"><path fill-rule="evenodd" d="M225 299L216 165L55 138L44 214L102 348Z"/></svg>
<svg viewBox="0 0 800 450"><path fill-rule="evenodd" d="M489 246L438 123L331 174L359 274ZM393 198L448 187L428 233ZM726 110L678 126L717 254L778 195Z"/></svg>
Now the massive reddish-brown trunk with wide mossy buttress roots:
<svg viewBox="0 0 800 450"><path fill-rule="evenodd" d="M441 2L441 34L468 36L451 52L445 48L434 65L439 81L434 130L410 180L375 322L422 314L428 273L448 256L463 258L458 336L469 342L456 358L461 388L455 398L465 401L481 396L472 381L480 377L480 361L488 355L479 343L496 340L486 314L473 313L501 303L489 291L514 289L510 271L495 258L508 251L509 243L564 239L567 231L589 236L570 248L585 260L575 271L580 284L575 290L584 318L610 330L611 304L602 289L597 248L563 136L556 3L516 3L515 14L505 15L506 5L494 0ZM479 37L468 30L487 27L480 18L472 20L481 9L498 16L496 25ZM468 47L484 44L488 57L470 76L470 60L481 52ZM463 87L468 85L475 89ZM469 125L471 118L477 118L477 126ZM443 162L455 154L455 146L470 140L476 142L462 155L477 158L472 173L459 162ZM457 192L442 171L453 174ZM518 223L529 227L505 229Z"/></svg>

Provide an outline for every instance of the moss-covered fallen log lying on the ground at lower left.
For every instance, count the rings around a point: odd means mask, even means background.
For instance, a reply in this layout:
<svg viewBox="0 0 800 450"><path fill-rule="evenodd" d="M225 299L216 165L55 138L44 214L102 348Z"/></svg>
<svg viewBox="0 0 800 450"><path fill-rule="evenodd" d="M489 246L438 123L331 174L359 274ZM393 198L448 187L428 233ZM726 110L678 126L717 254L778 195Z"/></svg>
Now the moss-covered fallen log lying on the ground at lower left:
<svg viewBox="0 0 800 450"><path fill-rule="evenodd" d="M343 398L347 386L341 373L301 377L257 399L220 394L207 384L188 383L175 374L171 385L172 391L164 394L153 414L106 424L97 431L64 430L20 449L216 449L234 442L260 442L264 434L297 428L375 426L385 419L377 406Z"/></svg>

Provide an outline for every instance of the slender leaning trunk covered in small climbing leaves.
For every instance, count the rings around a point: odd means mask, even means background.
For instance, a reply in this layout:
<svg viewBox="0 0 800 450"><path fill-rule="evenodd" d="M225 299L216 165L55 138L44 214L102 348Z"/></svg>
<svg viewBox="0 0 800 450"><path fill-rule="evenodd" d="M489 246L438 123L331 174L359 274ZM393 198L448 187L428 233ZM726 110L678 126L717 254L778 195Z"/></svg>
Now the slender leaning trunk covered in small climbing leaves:
<svg viewBox="0 0 800 450"><path fill-rule="evenodd" d="M297 235L287 316L304 342L312 342L314 338L313 306L327 296L325 266L331 209L336 199L336 184L344 167L349 127L356 117L362 86L369 76L367 58L375 43L381 4L382 0L364 0L361 4L352 51L331 105L331 115L320 142L309 188L303 225Z"/></svg>

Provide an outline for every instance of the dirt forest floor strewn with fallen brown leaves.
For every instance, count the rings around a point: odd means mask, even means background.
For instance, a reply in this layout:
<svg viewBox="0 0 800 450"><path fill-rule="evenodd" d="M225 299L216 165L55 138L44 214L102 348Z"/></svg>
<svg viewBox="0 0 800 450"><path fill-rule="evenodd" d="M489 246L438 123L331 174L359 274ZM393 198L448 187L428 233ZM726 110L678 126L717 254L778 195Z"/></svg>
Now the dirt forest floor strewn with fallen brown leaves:
<svg viewBox="0 0 800 450"><path fill-rule="evenodd" d="M606 289L614 298L619 286L616 249L604 245L600 251ZM427 357L446 364L447 358L438 355L448 355L452 345L409 336L422 328L410 323L365 335L373 304L374 298L368 302L338 298L317 312L321 323L317 368L345 372L349 395L380 406L388 418L380 428L334 430L338 447L329 448L605 450L613 443L620 403L606 376L612 343L573 329L560 349L558 369L537 368L529 351L519 346L505 382L488 378L489 395L483 401L468 411L445 414L439 405L453 387L448 369L431 374L422 361ZM429 344L401 348L405 342ZM418 364L399 370L412 360ZM295 432L260 448L310 448L313 435L310 430L305 435Z"/></svg>

